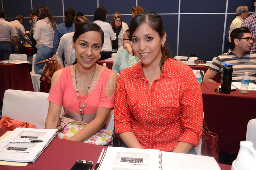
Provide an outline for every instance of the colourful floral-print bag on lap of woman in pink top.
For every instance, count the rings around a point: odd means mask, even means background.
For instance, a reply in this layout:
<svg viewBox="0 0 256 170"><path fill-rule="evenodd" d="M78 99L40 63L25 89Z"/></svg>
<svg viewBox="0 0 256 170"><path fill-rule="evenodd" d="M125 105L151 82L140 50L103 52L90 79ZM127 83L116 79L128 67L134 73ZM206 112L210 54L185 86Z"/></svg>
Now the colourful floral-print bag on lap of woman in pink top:
<svg viewBox="0 0 256 170"><path fill-rule="evenodd" d="M68 139L77 134L87 124L76 121L71 118L62 117L59 120L57 129L59 132L57 138ZM113 141L113 131L109 129L100 129L98 133L84 141L84 143L95 145L108 145Z"/></svg>

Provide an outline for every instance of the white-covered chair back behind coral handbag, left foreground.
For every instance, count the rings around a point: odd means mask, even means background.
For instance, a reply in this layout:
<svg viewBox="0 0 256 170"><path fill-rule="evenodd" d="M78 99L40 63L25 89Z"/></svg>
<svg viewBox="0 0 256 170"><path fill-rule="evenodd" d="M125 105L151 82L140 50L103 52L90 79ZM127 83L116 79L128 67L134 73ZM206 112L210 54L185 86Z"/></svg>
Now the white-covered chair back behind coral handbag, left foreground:
<svg viewBox="0 0 256 170"><path fill-rule="evenodd" d="M2 115L43 129L49 107L48 96L49 93L8 89L4 94Z"/></svg>

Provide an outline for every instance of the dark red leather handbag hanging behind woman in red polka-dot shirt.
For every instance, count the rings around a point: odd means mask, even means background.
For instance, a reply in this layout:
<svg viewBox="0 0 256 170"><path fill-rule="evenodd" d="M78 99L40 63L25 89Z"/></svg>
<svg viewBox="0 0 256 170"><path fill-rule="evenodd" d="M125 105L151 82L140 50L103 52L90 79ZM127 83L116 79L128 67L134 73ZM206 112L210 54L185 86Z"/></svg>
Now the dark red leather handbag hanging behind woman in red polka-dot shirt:
<svg viewBox="0 0 256 170"><path fill-rule="evenodd" d="M201 155L212 156L219 163L218 135L210 132L203 119L202 148Z"/></svg>

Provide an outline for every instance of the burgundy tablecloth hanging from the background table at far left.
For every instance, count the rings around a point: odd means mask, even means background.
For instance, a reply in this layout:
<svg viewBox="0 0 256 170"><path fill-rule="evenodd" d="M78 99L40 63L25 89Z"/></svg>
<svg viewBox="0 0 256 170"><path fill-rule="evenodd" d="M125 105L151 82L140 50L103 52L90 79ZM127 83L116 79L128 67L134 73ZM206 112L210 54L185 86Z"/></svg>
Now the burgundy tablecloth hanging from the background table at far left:
<svg viewBox="0 0 256 170"><path fill-rule="evenodd" d="M0 65L0 100L3 101L5 90L34 91L28 63Z"/></svg>

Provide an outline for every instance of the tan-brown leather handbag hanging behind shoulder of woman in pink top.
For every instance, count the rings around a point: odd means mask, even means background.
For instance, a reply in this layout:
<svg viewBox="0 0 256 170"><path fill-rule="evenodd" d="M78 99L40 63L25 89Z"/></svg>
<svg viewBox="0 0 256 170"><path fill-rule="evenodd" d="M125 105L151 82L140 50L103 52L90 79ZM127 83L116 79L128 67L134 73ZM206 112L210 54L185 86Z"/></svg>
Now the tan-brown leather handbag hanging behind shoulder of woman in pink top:
<svg viewBox="0 0 256 170"><path fill-rule="evenodd" d="M46 82L48 84L51 84L53 73L56 72L57 70L61 69L61 65L54 57L48 58L41 62L37 62L35 64L38 65L38 64L45 63L45 62L48 62L48 64L45 66L45 68L43 70L43 73L40 77L40 81L42 80L43 77L45 77Z"/></svg>

